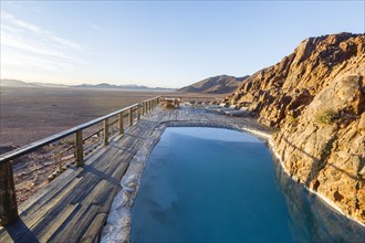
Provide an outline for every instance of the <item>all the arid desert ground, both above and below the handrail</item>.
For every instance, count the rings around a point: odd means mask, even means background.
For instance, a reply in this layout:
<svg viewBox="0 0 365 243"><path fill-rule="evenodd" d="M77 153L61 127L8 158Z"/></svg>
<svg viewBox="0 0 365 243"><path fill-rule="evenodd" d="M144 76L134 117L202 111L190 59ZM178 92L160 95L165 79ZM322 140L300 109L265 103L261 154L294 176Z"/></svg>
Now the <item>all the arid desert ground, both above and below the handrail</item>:
<svg viewBox="0 0 365 243"><path fill-rule="evenodd" d="M158 95L198 96L149 91L1 87L0 154ZM13 161L18 203L48 183L48 177L58 169L54 155L67 146L66 142L46 146Z"/></svg>

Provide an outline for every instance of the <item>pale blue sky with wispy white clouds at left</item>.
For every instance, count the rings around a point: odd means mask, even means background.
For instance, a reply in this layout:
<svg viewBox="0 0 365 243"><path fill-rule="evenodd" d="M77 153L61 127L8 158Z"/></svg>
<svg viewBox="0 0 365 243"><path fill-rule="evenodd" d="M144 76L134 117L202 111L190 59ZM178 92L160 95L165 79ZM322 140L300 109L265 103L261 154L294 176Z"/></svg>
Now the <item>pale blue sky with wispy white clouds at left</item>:
<svg viewBox="0 0 365 243"><path fill-rule="evenodd" d="M3 1L1 78L180 87L364 33L364 1Z"/></svg>

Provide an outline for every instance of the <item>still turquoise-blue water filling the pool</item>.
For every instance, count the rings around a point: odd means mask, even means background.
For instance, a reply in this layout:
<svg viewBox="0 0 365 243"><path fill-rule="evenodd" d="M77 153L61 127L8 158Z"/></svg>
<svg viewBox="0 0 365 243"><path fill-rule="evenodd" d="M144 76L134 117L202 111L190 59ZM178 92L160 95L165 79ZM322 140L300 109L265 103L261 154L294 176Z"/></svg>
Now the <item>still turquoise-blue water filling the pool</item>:
<svg viewBox="0 0 365 243"><path fill-rule="evenodd" d="M258 138L167 128L132 209L132 242L361 242L365 229L281 170Z"/></svg>

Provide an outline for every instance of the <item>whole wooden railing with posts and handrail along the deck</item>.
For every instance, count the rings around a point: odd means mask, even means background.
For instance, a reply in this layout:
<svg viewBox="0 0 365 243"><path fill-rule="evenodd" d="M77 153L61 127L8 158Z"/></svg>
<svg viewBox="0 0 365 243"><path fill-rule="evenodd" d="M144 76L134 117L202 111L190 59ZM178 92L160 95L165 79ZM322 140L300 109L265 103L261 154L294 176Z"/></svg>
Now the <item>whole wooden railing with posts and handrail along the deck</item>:
<svg viewBox="0 0 365 243"><path fill-rule="evenodd" d="M140 116L149 113L156 105L158 105L160 97L154 97L144 101L138 104L131 105L123 109L116 110L103 117L93 119L88 123L73 127L71 129L61 131L48 138L32 142L19 149L0 155L0 225L7 225L14 222L19 218L18 203L14 187L14 177L12 161L21 156L33 152L34 150L42 148L46 145L51 145L54 141L59 141L65 137L74 136L73 145L63 151L59 152L55 157L62 157L63 152L74 150L74 160L77 167L84 165L84 142L96 134L103 133L103 144L107 146L109 142L109 128L111 126L118 124L118 134L123 135L125 129L124 119L127 117L128 126L133 125L134 117L138 122ZM111 123L113 117L117 117ZM83 139L83 131L91 126L103 123L103 128L92 133ZM62 169L62 160L59 159L59 170Z"/></svg>

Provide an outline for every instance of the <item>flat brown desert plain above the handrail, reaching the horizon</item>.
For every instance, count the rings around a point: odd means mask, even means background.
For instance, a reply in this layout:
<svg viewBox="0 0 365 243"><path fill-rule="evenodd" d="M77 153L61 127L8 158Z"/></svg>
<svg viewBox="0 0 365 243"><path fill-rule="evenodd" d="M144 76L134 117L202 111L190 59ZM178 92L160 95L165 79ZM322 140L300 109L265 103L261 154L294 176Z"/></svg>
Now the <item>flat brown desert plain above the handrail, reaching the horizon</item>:
<svg viewBox="0 0 365 243"><path fill-rule="evenodd" d="M1 87L0 146L19 147L161 93Z"/></svg>

